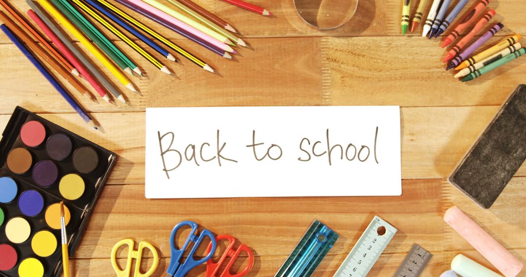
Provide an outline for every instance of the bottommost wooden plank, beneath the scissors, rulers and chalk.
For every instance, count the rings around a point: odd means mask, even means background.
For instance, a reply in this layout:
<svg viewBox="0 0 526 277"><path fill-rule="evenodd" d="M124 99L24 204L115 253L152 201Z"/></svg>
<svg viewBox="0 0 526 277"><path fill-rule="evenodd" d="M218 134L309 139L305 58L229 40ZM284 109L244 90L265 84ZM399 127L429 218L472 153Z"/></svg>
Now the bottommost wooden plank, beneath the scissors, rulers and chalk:
<svg viewBox="0 0 526 277"><path fill-rule="evenodd" d="M409 250L409 249L407 249ZM516 254L526 257L526 250L519 249L514 251ZM330 253L330 252L329 252ZM426 269L423 271L422 277L437 277L442 272L449 270L450 263L453 257L457 254L464 254L471 259L483 264L491 270L497 271L488 261L480 256L476 251L447 251L447 252L432 252L433 258L430 260ZM345 259L343 254L328 254L327 257L321 262L318 269L313 276L332 276L338 269L341 261ZM398 268L398 265L402 262L405 257L405 253L383 253L380 259L371 269L368 276L392 276L392 274ZM273 276L276 274L281 264L287 259L286 256L266 256L256 257L254 262L254 268L246 275L249 276ZM143 272L151 267L151 259L144 259L141 263L141 269ZM170 260L168 258L160 259L159 267L153 276L164 276L168 268ZM125 263L124 259L118 260L119 264ZM135 264L134 264L135 266ZM244 268L244 265L236 263L238 268ZM114 276L112 265L109 259L91 259L91 260L78 260L74 259L70 263L72 272L75 276ZM189 277L194 276L205 276L206 266L199 265L199 267L191 270L188 273ZM521 273L518 277L526 276L525 273Z"/></svg>

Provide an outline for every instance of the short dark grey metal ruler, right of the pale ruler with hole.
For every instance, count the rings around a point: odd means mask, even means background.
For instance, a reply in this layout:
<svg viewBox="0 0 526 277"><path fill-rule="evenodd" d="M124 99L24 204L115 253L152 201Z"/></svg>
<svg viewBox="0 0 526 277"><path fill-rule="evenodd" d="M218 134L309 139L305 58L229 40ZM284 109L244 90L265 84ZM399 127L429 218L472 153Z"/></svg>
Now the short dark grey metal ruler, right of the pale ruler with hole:
<svg viewBox="0 0 526 277"><path fill-rule="evenodd" d="M426 268L429 260L431 260L433 254L429 253L426 249L423 249L418 244L413 243L411 250L403 259L402 263L398 267L393 277L418 277Z"/></svg>

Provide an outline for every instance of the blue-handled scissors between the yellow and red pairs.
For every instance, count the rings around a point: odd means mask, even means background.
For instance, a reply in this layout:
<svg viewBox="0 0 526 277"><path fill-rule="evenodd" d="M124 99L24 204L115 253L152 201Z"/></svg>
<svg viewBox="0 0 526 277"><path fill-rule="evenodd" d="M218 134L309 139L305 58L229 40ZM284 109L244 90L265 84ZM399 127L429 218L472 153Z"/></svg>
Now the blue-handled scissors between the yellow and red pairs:
<svg viewBox="0 0 526 277"><path fill-rule="evenodd" d="M192 228L190 231L190 234L188 235L188 238L186 238L185 244L180 249L176 248L176 241L175 241L175 235L179 228L188 225ZM194 259L194 253L196 252L197 248L199 248L199 245L201 242L203 242L203 239L209 237L210 243L211 243L211 251L206 255L205 258L200 260ZM183 257L184 252L189 247L189 244L191 242L194 242L194 246L191 248L190 253L188 253L188 257L183 262L183 264L180 263L181 258ZM170 249L171 249L171 259L170 264L168 265L168 270L166 273L168 273L167 277L184 277L188 271L191 269L197 267L199 264L205 263L210 258L212 258L212 255L214 255L214 252L216 251L216 239L214 238L214 234L210 232L209 230L205 229L201 231L200 235L198 235L197 231L197 223L194 221L181 221L177 223L177 225L174 227L173 230L171 230L170 235Z"/></svg>

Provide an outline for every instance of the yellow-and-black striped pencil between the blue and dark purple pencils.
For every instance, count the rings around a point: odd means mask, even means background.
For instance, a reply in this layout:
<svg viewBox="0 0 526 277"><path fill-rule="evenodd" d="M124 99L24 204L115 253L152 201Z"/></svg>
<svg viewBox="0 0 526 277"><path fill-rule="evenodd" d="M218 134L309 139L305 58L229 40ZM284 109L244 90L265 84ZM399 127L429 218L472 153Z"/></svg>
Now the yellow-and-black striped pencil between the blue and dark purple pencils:
<svg viewBox="0 0 526 277"><path fill-rule="evenodd" d="M206 69L208 71L211 70L211 72L214 72L214 70L210 66L208 66L204 61L196 58L194 55L190 54L185 49L177 46L173 42L171 42L168 39L166 39L165 37L161 36L159 33L154 31L153 29L150 29L146 25L140 23L134 17L131 17L127 13L123 12L123 10L120 10L119 8L115 7L114 5L108 3L106 0L97 0L97 1L98 1L98 3L104 5L106 8L112 10L112 12L114 12L115 14L117 14L120 17L122 17L123 19L127 20L129 23L131 23L131 24L135 25L137 28L143 30L148 35L156 38L160 42L163 42L164 45L170 47L174 51L178 52L180 55L183 55L185 58L189 59L191 62L194 62L199 67L204 68L204 69Z"/></svg>

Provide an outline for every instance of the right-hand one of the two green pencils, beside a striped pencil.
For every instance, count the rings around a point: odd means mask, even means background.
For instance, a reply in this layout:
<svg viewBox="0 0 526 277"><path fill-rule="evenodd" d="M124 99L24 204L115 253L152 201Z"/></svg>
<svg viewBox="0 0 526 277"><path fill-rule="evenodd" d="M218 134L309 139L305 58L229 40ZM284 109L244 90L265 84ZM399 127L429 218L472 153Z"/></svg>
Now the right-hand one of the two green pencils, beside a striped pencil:
<svg viewBox="0 0 526 277"><path fill-rule="evenodd" d="M137 72L139 75L142 75L142 72L140 71L139 67L137 67L135 63L131 61L126 56L126 54L124 54L123 51L117 48L117 46L106 37L106 35L104 35L99 29L97 29L97 27L95 27L91 22L89 22L89 20L83 14L81 14L72 4L70 4L69 1L66 1L66 0L51 0L51 1L52 3L55 4L55 7L63 7L65 10L68 10L69 13L72 14L73 17L77 19L77 22L80 22L79 25L84 26L85 29L88 30L88 33L92 34L94 37L97 38L97 41L99 41L100 44L104 44L105 46L107 46L107 48L109 48L111 52L113 52L119 59L121 59L126 64L127 67ZM83 31L83 33L85 32ZM128 73L130 73L133 76L131 72L128 71Z"/></svg>

